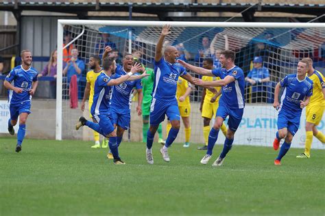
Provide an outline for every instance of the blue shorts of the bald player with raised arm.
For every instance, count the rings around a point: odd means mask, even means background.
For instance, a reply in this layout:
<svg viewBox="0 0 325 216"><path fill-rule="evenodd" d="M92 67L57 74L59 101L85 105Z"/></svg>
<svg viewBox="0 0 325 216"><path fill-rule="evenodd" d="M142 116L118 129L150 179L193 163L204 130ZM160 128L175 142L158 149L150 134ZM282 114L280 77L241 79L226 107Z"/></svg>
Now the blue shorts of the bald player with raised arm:
<svg viewBox="0 0 325 216"><path fill-rule="evenodd" d="M150 124L160 124L160 122L165 120L165 115L170 121L180 121L180 110L178 109L176 98L172 100L159 100L157 98L152 98L152 104L150 105Z"/></svg>

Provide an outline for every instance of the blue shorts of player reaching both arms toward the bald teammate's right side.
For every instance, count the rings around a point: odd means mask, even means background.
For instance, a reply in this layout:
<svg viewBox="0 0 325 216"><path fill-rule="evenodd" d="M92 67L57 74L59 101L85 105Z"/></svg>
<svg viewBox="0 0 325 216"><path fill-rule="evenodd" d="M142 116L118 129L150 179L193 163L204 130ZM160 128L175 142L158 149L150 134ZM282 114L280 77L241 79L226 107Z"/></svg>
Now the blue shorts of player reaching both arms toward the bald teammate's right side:
<svg viewBox="0 0 325 216"><path fill-rule="evenodd" d="M226 105L219 104L217 109L216 117L221 117L226 120L228 119L228 127L231 131L237 131L239 124L241 124L241 118L243 117L243 109L230 109Z"/></svg>

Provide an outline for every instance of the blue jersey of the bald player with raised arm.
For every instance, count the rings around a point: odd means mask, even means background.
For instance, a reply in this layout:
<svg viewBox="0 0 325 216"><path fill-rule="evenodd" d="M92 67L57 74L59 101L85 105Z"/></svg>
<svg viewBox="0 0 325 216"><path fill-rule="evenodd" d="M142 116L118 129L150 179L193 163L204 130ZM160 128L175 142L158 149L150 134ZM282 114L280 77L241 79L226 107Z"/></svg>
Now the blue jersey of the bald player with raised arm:
<svg viewBox="0 0 325 216"><path fill-rule="evenodd" d="M160 100L176 98L178 77L186 75L180 64L170 64L164 58L154 62L154 88L152 96Z"/></svg>

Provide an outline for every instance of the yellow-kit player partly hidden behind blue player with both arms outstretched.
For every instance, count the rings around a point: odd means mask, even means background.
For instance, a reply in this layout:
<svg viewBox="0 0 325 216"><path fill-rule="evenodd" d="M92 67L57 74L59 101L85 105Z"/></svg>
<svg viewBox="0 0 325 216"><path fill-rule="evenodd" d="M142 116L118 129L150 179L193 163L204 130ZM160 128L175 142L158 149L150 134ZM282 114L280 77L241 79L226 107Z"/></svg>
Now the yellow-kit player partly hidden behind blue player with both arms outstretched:
<svg viewBox="0 0 325 216"><path fill-rule="evenodd" d="M213 59L207 58L203 61L203 68L208 70L213 69ZM214 81L220 79L219 77L207 77L203 76L203 81ZM221 95L221 87L215 87L217 90L217 94L211 92L210 90L203 89L202 92L202 100L200 105L200 111L202 113L203 118L203 137L205 145L202 147L197 148L198 150L207 150L208 148L208 135L210 133L210 120L215 116L217 113L217 109L219 107L219 96ZM227 126L226 124L222 124L221 131L226 136L227 133Z"/></svg>

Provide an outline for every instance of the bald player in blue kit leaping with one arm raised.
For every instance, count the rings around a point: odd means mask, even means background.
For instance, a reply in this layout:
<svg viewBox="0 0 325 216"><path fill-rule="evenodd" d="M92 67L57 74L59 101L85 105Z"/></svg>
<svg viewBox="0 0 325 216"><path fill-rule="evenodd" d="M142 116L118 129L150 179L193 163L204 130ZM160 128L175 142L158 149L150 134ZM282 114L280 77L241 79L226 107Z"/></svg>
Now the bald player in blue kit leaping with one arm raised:
<svg viewBox="0 0 325 216"><path fill-rule="evenodd" d="M171 130L169 131L166 143L160 149L163 159L169 162L168 148L180 131L180 110L176 99L178 77L182 77L193 83L193 77L186 73L185 68L176 62L179 57L178 50L174 46L166 46L163 53L164 39L171 31L170 25L164 25L156 45L154 57L154 88L152 90L152 103L149 114L149 130L147 132L147 163L153 164L152 143L154 135L160 122L165 120L165 115L171 121Z"/></svg>

